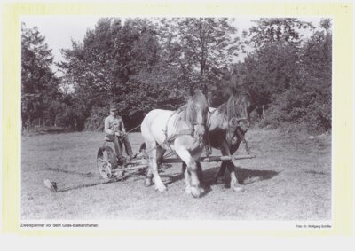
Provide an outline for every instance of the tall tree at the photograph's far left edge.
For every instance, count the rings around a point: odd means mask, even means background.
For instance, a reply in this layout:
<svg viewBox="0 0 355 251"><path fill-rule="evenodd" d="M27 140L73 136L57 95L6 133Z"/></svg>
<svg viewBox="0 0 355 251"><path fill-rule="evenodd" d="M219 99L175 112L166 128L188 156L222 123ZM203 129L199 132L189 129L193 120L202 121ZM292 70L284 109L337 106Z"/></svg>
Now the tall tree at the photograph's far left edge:
<svg viewBox="0 0 355 251"><path fill-rule="evenodd" d="M59 80L51 71L51 50L37 27L21 24L21 55L22 121L53 121L46 116L46 109L59 97Z"/></svg>

